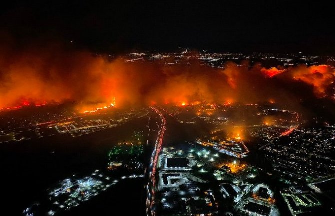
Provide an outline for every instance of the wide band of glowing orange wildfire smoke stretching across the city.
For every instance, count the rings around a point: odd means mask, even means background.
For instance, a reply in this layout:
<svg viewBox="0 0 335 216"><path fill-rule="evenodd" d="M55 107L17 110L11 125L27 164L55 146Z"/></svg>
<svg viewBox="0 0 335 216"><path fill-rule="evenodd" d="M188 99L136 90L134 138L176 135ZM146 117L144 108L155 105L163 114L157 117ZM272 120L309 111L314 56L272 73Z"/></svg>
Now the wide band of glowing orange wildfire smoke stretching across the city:
<svg viewBox="0 0 335 216"><path fill-rule="evenodd" d="M94 112L114 106L113 97L119 108L153 103L186 106L199 101L254 104L269 98L285 103L293 101L289 87L298 82L311 86L316 97L333 96L334 71L329 65L266 69L257 64L227 62L222 68L214 68L200 60L184 64L188 56L179 59L180 64L166 66L161 62L164 60L126 62L122 56L111 60L61 47L30 47L18 52L15 47L3 46L2 110L75 101L80 112ZM281 88L283 80L285 89Z"/></svg>

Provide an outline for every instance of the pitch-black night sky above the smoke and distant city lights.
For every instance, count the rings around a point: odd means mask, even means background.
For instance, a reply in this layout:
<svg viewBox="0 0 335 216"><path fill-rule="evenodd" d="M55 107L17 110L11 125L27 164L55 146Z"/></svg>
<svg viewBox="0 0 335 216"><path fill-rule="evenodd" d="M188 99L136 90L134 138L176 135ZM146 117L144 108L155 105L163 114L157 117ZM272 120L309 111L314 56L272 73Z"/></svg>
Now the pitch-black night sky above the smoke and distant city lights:
<svg viewBox="0 0 335 216"><path fill-rule="evenodd" d="M13 0L0 7L0 39L17 47L72 40L97 52L335 54L333 14L322 1Z"/></svg>

